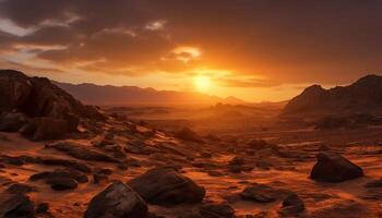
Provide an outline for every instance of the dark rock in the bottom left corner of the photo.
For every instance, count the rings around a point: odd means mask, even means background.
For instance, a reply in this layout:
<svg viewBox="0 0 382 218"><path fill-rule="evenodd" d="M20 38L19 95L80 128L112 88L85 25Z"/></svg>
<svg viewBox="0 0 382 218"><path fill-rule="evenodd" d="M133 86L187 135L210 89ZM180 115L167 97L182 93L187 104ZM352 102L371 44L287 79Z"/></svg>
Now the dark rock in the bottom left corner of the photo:
<svg viewBox="0 0 382 218"><path fill-rule="evenodd" d="M35 217L35 205L24 194L0 194L0 217Z"/></svg>

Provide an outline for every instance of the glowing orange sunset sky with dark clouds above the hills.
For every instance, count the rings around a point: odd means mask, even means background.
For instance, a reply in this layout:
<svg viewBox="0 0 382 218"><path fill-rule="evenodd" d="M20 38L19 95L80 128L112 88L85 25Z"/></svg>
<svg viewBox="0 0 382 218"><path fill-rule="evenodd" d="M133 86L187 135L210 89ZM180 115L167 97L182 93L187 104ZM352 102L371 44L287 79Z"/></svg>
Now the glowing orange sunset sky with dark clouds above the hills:
<svg viewBox="0 0 382 218"><path fill-rule="evenodd" d="M382 72L379 0L0 0L0 68L286 100Z"/></svg>

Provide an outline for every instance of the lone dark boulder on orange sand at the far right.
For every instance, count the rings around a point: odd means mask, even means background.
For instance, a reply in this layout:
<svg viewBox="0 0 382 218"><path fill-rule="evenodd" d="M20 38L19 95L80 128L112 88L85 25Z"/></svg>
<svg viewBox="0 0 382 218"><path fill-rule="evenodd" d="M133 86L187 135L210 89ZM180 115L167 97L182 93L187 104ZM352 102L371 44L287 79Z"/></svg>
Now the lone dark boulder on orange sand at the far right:
<svg viewBox="0 0 382 218"><path fill-rule="evenodd" d="M344 182L363 175L357 165L333 152L321 152L317 155L310 178L320 182Z"/></svg>

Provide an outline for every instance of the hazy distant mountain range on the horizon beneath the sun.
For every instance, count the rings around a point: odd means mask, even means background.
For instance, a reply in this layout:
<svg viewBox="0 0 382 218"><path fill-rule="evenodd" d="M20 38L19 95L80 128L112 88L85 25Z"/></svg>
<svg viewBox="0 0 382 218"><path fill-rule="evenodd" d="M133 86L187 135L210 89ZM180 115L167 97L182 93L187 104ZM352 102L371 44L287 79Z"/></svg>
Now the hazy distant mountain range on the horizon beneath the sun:
<svg viewBox="0 0 382 218"><path fill-rule="evenodd" d="M219 98L200 93L156 90L154 88L140 88L136 86L111 86L95 84L79 84L55 82L59 87L67 90L81 101L100 106L196 106L223 104L246 104L235 97Z"/></svg>

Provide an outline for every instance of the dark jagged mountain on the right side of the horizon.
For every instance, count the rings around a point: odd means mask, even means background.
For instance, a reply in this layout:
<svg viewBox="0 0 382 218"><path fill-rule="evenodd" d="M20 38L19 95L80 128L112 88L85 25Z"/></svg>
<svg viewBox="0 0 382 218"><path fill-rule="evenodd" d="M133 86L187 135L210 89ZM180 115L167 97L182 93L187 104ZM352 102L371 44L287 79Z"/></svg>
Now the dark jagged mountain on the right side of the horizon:
<svg viewBox="0 0 382 218"><path fill-rule="evenodd" d="M382 76L367 75L348 86L324 89L320 85L306 88L284 108L284 116L380 113L382 111Z"/></svg>

